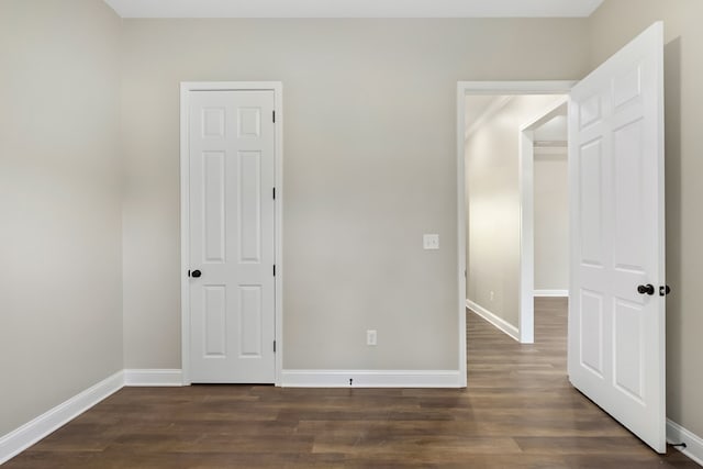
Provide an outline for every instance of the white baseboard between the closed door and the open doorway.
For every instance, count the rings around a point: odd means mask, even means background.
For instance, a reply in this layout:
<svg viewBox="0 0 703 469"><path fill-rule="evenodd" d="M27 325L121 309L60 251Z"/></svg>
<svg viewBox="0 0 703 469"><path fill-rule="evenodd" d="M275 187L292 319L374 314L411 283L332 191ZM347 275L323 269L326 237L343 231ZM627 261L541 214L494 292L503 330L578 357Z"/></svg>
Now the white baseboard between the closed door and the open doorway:
<svg viewBox="0 0 703 469"><path fill-rule="evenodd" d="M283 370L281 386L284 388L461 388L461 382L458 370Z"/></svg>

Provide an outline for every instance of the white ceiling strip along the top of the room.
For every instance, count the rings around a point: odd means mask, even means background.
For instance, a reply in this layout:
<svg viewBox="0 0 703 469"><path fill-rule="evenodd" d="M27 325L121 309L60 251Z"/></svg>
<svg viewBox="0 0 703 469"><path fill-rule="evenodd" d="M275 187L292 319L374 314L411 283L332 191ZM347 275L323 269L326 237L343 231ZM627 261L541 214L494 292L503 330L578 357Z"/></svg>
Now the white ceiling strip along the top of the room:
<svg viewBox="0 0 703 469"><path fill-rule="evenodd" d="M603 0L104 0L122 18L579 18Z"/></svg>

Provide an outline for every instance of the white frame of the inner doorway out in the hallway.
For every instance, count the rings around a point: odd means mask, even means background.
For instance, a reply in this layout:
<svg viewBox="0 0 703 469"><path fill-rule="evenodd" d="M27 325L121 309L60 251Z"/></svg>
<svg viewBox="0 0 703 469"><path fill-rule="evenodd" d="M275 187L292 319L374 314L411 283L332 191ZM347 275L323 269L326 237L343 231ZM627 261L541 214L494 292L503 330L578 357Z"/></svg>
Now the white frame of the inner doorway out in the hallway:
<svg viewBox="0 0 703 469"><path fill-rule="evenodd" d="M526 121L520 127L518 187L520 187L520 299L517 325L520 343L535 342L535 139L534 129L568 112L569 98L565 96L549 108ZM568 158L568 150L567 150ZM571 253L569 253L570 255Z"/></svg>

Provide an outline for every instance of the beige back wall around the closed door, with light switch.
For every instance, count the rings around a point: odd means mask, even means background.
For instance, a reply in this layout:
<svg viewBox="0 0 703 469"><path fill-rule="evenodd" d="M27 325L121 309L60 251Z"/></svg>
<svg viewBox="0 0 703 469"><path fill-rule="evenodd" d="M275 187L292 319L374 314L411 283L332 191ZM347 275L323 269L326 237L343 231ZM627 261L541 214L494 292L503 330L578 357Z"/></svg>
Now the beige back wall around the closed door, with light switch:
<svg viewBox="0 0 703 469"><path fill-rule="evenodd" d="M180 368L179 82L281 80L284 368L457 369L457 81L581 77L585 23L125 20L125 367Z"/></svg>

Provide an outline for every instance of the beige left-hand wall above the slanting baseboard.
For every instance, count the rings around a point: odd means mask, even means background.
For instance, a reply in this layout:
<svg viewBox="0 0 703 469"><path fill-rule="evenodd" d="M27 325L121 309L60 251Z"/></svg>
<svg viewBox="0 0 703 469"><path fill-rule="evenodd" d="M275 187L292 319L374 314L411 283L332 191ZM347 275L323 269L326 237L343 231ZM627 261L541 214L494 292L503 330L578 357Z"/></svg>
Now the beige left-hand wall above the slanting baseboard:
<svg viewBox="0 0 703 469"><path fill-rule="evenodd" d="M120 22L0 1L0 436L122 369Z"/></svg>

